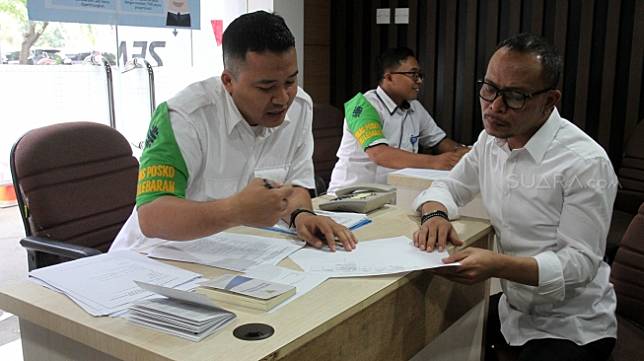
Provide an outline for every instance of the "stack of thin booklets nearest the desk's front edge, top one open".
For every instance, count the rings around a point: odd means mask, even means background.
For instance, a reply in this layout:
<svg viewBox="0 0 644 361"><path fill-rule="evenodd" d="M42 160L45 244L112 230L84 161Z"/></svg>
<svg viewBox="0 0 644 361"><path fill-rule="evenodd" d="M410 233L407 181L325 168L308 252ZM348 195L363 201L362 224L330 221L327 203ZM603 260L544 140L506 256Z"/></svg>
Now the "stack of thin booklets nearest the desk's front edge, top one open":
<svg viewBox="0 0 644 361"><path fill-rule="evenodd" d="M139 325L191 341L200 341L236 317L234 313L217 307L207 297L198 293L144 282L137 284L142 289L166 297L141 301L130 307L126 317Z"/></svg>

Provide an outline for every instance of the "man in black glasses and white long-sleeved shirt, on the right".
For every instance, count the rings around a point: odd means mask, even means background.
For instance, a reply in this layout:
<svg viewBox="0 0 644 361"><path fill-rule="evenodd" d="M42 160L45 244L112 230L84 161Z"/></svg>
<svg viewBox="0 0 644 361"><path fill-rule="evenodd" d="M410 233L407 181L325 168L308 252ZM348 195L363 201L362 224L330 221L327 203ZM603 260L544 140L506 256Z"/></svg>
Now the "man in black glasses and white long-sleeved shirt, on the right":
<svg viewBox="0 0 644 361"><path fill-rule="evenodd" d="M501 279L490 298L486 360L606 360L616 298L602 260L617 178L606 152L555 105L561 58L543 38L502 42L479 81L483 125L445 180L421 193L414 244L462 242L448 221L481 193L499 253L456 251L438 273L457 282Z"/></svg>

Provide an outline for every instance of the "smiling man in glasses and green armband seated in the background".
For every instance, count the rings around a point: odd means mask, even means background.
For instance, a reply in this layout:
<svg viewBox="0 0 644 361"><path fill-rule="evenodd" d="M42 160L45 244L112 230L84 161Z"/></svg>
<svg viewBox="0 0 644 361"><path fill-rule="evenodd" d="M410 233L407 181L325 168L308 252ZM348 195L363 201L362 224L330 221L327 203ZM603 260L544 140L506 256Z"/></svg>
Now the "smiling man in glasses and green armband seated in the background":
<svg viewBox="0 0 644 361"><path fill-rule="evenodd" d="M413 51L389 49L379 57L378 68L378 88L345 104L329 193L357 183L385 183L394 169L451 169L468 150L447 138L416 100L423 72ZM439 154L418 154L420 147Z"/></svg>

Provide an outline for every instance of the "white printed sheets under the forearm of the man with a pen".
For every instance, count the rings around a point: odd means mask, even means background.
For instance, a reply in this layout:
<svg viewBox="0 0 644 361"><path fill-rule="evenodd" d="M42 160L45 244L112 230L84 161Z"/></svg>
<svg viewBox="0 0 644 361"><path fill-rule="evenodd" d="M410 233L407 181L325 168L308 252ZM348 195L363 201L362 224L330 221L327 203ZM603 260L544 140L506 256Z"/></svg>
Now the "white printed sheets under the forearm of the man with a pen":
<svg viewBox="0 0 644 361"><path fill-rule="evenodd" d="M222 232L194 241L167 242L148 256L242 272L260 264L276 265L302 247L304 242L296 240Z"/></svg>

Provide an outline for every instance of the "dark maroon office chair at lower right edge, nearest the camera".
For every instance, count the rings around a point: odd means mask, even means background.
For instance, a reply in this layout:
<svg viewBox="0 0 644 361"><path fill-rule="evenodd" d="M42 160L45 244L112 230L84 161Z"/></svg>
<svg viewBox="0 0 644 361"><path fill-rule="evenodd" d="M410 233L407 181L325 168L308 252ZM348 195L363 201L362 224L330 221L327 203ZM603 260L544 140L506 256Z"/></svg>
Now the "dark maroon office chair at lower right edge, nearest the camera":
<svg viewBox="0 0 644 361"><path fill-rule="evenodd" d="M644 203L619 243L610 281L617 294L615 361L644 360Z"/></svg>

